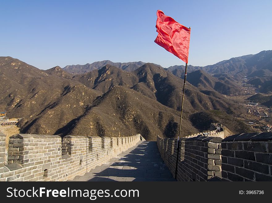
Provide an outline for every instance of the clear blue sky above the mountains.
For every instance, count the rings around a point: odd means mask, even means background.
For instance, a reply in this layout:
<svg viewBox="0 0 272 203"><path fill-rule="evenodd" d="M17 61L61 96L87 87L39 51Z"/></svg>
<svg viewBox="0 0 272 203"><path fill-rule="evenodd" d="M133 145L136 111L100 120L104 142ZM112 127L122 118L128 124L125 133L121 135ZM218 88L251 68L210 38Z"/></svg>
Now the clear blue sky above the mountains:
<svg viewBox="0 0 272 203"><path fill-rule="evenodd" d="M191 28L189 64L272 49L272 1L1 1L0 56L40 69L95 61L184 65L155 44L156 11Z"/></svg>

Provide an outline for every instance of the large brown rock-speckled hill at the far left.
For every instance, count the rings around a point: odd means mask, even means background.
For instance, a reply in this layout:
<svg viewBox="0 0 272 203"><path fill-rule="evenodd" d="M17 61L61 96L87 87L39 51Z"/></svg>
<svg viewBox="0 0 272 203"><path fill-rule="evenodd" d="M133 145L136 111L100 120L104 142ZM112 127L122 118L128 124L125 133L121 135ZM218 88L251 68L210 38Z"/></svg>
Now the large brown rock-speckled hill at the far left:
<svg viewBox="0 0 272 203"><path fill-rule="evenodd" d="M99 95L79 82L51 76L18 59L6 58L0 57L3 85L0 108L7 110L9 118L23 118L19 122L23 133L55 133L80 116ZM42 117L43 114L46 116Z"/></svg>

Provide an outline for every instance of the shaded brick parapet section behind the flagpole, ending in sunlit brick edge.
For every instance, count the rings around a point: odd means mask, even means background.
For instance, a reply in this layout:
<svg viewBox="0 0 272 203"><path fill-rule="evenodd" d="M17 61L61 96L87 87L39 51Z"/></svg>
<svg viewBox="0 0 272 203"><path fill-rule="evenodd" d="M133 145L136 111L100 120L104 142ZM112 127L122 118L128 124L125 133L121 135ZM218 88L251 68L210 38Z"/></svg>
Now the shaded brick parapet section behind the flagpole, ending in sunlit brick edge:
<svg viewBox="0 0 272 203"><path fill-rule="evenodd" d="M198 136L178 141L158 136L157 145L173 177L178 158L177 180L207 181L215 176L221 177L221 140L220 137ZM180 142L179 153L177 142Z"/></svg>

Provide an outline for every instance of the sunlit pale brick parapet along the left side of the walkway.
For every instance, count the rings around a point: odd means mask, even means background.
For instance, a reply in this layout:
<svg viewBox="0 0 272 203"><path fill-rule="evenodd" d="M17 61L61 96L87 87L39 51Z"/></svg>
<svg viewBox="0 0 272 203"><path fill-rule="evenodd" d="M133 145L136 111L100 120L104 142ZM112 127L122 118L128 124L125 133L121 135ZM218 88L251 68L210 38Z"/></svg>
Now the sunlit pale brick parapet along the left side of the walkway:
<svg viewBox="0 0 272 203"><path fill-rule="evenodd" d="M65 181L83 175L144 138L16 134L5 156L0 136L0 181ZM7 159L6 165L5 159Z"/></svg>

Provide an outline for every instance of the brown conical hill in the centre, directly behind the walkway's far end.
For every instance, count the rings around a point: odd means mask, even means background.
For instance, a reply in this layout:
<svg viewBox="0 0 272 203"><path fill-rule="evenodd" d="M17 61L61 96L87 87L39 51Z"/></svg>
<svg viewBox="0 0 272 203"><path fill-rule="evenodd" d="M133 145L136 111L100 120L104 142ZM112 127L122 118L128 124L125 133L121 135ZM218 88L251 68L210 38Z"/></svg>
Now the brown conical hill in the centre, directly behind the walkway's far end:
<svg viewBox="0 0 272 203"><path fill-rule="evenodd" d="M155 140L158 134L176 137L178 122L179 112L137 91L114 86L69 124L68 134L118 137L141 133L146 139ZM197 131L185 117L183 135Z"/></svg>

